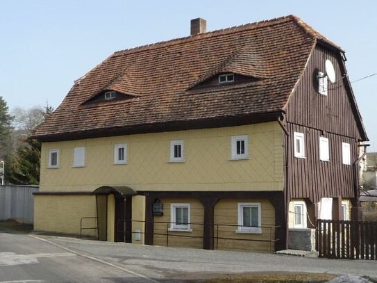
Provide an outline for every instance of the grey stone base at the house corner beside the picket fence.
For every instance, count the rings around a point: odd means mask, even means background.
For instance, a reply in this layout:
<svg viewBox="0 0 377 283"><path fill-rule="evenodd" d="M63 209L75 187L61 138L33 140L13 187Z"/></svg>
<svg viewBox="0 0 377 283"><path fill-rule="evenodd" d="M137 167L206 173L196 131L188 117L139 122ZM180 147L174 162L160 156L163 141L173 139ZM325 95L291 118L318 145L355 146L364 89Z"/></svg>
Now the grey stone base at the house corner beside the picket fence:
<svg viewBox="0 0 377 283"><path fill-rule="evenodd" d="M292 250L315 250L315 229L290 229L289 248Z"/></svg>

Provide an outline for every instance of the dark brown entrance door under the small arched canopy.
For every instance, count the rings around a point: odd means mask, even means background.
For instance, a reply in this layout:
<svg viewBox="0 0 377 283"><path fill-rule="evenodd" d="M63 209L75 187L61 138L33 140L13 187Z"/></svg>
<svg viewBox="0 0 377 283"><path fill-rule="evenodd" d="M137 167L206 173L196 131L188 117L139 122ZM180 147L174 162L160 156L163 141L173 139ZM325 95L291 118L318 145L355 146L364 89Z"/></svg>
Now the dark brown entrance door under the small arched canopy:
<svg viewBox="0 0 377 283"><path fill-rule="evenodd" d="M115 241L132 242L132 198L115 195Z"/></svg>

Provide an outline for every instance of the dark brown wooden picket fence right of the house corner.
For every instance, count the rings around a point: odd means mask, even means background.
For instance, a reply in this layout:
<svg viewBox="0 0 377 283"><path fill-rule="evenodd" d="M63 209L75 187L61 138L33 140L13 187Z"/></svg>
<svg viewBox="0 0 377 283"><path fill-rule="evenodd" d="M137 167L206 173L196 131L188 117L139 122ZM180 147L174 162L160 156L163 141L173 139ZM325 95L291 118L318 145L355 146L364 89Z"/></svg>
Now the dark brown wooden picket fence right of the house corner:
<svg viewBox="0 0 377 283"><path fill-rule="evenodd" d="M377 259L377 222L318 220L319 257Z"/></svg>

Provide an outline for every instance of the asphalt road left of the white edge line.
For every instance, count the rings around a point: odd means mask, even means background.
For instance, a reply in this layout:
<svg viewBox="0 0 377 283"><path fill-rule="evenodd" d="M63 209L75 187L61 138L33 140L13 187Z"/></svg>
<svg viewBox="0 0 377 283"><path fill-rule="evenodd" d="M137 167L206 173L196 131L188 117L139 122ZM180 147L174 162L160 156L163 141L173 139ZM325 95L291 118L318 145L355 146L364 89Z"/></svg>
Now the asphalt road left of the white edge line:
<svg viewBox="0 0 377 283"><path fill-rule="evenodd" d="M146 282L23 234L0 233L0 282Z"/></svg>

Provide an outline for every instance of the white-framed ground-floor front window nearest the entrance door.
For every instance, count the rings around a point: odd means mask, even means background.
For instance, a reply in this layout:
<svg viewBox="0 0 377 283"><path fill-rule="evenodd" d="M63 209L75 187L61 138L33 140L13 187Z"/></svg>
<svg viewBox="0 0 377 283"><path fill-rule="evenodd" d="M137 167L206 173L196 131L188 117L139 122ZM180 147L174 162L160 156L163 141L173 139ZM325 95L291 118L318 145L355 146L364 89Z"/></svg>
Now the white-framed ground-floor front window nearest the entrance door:
<svg viewBox="0 0 377 283"><path fill-rule="evenodd" d="M170 204L170 230L192 231L192 229L190 229L190 204Z"/></svg>

